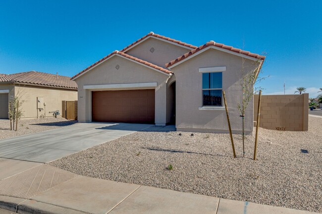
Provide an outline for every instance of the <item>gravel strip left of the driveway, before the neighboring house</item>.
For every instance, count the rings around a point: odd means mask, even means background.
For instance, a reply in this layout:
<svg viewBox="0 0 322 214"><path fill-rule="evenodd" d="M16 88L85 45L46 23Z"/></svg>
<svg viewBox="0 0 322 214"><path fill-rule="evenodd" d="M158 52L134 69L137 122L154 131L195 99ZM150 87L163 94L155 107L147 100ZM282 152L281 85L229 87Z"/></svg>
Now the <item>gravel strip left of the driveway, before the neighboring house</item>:
<svg viewBox="0 0 322 214"><path fill-rule="evenodd" d="M8 120L0 120L0 139L15 137L23 134L30 134L39 131L45 131L54 128L61 128L77 123L77 121L69 121L64 118L39 118L39 119L23 119L18 121L18 130L10 130L10 122Z"/></svg>

